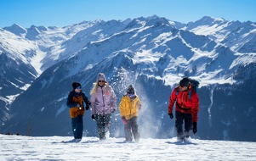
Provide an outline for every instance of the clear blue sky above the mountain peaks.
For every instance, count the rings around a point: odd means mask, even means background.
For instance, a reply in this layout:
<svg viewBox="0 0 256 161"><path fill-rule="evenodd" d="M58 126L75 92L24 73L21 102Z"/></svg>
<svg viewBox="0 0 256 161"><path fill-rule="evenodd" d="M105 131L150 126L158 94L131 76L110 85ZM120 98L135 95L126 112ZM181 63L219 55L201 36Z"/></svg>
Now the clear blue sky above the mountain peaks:
<svg viewBox="0 0 256 161"><path fill-rule="evenodd" d="M0 27L58 26L83 20L158 15L183 23L203 16L256 22L255 0L0 0Z"/></svg>

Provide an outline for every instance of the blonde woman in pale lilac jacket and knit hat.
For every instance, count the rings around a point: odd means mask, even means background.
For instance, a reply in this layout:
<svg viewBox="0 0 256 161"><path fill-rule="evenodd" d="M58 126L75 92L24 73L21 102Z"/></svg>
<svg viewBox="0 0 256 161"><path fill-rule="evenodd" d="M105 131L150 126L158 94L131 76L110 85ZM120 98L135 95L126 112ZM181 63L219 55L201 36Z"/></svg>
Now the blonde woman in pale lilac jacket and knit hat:
<svg viewBox="0 0 256 161"><path fill-rule="evenodd" d="M111 125L111 114L117 109L116 94L103 73L98 74L90 94L92 119L96 120L100 140L105 140Z"/></svg>

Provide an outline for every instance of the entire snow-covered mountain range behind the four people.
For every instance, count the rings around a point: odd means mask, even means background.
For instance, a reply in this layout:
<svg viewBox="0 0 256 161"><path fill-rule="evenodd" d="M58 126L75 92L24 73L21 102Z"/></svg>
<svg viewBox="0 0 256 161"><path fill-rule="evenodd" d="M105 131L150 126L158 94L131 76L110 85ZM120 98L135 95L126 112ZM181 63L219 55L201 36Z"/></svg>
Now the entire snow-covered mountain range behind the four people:
<svg viewBox="0 0 256 161"><path fill-rule="evenodd" d="M256 23L203 17L182 24L156 15L58 27L0 29L1 129L69 136L71 83L89 91L104 72L119 103L129 84L141 97L142 136L173 136L168 98L183 76L200 80L196 137L256 141ZM95 136L87 112L85 134ZM154 132L149 132L154 131ZM118 111L113 136L122 136Z"/></svg>

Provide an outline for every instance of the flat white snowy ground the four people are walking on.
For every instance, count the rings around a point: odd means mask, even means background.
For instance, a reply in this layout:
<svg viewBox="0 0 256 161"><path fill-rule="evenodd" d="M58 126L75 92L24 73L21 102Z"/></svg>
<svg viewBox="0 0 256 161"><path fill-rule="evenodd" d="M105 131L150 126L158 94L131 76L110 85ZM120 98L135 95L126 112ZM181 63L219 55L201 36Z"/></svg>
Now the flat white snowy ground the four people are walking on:
<svg viewBox="0 0 256 161"><path fill-rule="evenodd" d="M0 160L256 160L256 142L0 135Z"/></svg>

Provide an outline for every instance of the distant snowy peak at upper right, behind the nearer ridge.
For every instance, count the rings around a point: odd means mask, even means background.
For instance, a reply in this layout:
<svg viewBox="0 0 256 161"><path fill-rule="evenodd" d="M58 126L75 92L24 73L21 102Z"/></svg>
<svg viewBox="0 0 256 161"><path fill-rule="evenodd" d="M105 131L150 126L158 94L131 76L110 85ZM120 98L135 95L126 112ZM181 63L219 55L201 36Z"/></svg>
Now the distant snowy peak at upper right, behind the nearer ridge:
<svg viewBox="0 0 256 161"><path fill-rule="evenodd" d="M226 47L240 53L255 53L256 23L230 21L204 16L196 22L187 24L183 29L212 38ZM245 47L247 46L247 47Z"/></svg>

